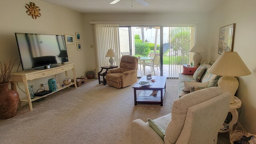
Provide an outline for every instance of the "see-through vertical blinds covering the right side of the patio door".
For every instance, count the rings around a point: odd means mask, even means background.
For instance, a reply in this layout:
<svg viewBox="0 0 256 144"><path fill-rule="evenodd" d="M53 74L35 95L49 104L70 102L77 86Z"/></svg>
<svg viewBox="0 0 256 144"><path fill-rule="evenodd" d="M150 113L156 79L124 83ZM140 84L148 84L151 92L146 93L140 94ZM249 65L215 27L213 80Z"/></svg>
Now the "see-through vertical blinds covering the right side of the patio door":
<svg viewBox="0 0 256 144"><path fill-rule="evenodd" d="M178 79L183 64L190 64L193 53L189 52L196 40L195 25L170 25L169 27L169 78Z"/></svg>

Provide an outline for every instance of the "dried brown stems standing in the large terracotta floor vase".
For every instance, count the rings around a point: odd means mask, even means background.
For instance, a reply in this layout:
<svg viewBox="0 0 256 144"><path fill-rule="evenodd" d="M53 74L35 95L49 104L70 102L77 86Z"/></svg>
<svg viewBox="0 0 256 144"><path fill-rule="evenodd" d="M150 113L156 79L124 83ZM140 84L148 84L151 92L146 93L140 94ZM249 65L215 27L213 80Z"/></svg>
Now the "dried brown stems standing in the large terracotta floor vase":
<svg viewBox="0 0 256 144"><path fill-rule="evenodd" d="M13 57L8 62L0 61L0 119L14 117L20 100L18 92L13 89L13 82L9 82L14 62ZM9 84L11 90L8 88Z"/></svg>

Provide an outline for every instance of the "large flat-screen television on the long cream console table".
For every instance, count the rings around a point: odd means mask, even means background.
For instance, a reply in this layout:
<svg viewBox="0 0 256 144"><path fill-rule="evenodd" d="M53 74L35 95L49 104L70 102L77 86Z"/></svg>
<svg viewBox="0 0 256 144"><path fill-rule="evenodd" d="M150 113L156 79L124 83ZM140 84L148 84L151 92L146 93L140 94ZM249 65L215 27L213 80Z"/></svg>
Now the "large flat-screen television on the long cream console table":
<svg viewBox="0 0 256 144"><path fill-rule="evenodd" d="M22 69L46 69L68 62L64 35L15 33Z"/></svg>

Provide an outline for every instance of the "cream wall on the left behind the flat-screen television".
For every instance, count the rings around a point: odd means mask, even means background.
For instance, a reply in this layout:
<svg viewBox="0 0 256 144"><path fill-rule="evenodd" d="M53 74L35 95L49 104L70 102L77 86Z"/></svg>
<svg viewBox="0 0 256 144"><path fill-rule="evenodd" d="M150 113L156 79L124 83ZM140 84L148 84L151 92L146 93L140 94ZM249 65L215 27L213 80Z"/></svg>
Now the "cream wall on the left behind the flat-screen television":
<svg viewBox="0 0 256 144"><path fill-rule="evenodd" d="M81 33L82 50L77 50L75 44L68 44L69 63L74 63L76 68L76 76L85 76L86 72L86 44L84 43L85 33L83 31L83 22L81 13L62 8L53 4L48 4L40 0L33 0L36 6L39 6L42 16L33 19L26 14L25 5L29 4L28 0L1 0L0 4L0 60L9 60L10 56L16 58L16 63L13 72L16 72L20 62L20 56L15 39L15 32L38 33L38 34L72 34L75 37L75 32ZM22 70L21 66L19 70ZM72 72L68 72L70 78L73 78ZM50 76L38 80L28 81L34 85L34 91L39 88L40 83L47 83ZM62 84L65 74L57 74L57 83ZM20 87L24 90L22 83ZM46 88L48 86L46 85ZM25 94L18 90L21 98Z"/></svg>

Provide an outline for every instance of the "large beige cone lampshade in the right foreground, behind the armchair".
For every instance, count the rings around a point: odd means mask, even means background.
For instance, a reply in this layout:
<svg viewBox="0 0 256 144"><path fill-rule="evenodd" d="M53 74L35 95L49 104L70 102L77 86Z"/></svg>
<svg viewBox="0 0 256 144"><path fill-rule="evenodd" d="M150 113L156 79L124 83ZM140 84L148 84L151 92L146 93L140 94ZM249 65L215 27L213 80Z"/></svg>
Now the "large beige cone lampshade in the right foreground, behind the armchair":
<svg viewBox="0 0 256 144"><path fill-rule="evenodd" d="M237 52L223 52L209 68L218 76L247 76L252 74Z"/></svg>

